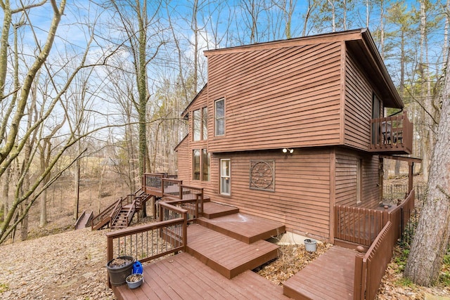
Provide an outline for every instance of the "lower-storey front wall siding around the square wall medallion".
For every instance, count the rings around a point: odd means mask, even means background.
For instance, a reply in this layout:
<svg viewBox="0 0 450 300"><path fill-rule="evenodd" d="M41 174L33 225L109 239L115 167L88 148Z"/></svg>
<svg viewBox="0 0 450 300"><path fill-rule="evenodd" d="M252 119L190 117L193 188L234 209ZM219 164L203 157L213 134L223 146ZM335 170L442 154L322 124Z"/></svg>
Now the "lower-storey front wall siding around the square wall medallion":
<svg viewBox="0 0 450 300"><path fill-rule="evenodd" d="M231 159L231 196L219 195L219 160ZM275 191L250 190L250 159L275 159ZM212 156L211 200L284 223L287 230L326 240L330 226L330 150L224 153ZM217 184L216 184L217 183Z"/></svg>

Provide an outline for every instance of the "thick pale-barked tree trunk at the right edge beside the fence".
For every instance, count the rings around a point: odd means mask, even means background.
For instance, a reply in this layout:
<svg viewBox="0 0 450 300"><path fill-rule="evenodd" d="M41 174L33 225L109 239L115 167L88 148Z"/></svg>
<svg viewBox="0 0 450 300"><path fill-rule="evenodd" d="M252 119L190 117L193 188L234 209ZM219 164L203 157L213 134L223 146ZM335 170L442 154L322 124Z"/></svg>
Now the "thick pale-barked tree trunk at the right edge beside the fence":
<svg viewBox="0 0 450 300"><path fill-rule="evenodd" d="M449 56L450 57L450 56ZM418 285L434 285L449 242L450 225L450 60L447 58L442 110L428 180L427 200L423 204L406 278Z"/></svg>

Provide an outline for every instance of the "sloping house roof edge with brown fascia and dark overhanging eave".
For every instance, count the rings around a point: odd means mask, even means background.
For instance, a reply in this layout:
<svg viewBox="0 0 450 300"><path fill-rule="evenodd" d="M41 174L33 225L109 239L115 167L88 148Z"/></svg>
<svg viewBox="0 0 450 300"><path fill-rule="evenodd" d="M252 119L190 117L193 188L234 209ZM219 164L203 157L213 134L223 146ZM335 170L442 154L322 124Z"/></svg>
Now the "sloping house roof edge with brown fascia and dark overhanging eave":
<svg viewBox="0 0 450 300"><path fill-rule="evenodd" d="M321 44L336 41L344 41L347 49L353 54L354 58L356 58L362 67L364 67L364 70L368 71L368 74L372 75L371 80L376 84L376 86L380 87L380 96L383 98L385 107L404 107L403 101L401 100L389 73L387 72L385 63L383 63L380 53L375 46L375 41L373 41L371 33L368 29L317 34L309 37L298 37L295 39L268 41L258 44L208 50L205 51L205 56L209 57L228 53L241 53L245 51L258 51L264 49ZM195 98L197 98L197 96Z"/></svg>

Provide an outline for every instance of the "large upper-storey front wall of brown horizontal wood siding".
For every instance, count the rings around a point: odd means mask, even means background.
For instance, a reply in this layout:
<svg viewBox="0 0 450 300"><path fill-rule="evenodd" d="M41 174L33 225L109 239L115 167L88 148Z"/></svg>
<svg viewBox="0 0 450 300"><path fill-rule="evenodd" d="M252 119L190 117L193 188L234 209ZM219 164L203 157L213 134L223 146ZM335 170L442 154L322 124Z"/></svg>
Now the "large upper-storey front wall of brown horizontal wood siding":
<svg viewBox="0 0 450 300"><path fill-rule="evenodd" d="M210 152L340 143L340 51L328 43L208 56ZM214 137L220 98L226 133Z"/></svg>

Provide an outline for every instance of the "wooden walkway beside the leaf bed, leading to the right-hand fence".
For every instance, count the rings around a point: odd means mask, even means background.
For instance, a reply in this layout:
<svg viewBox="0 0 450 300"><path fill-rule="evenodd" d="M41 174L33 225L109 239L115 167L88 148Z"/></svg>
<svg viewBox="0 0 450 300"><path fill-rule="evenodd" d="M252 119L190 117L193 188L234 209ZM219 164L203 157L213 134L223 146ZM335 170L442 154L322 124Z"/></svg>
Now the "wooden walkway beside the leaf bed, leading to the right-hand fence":
<svg viewBox="0 0 450 300"><path fill-rule="evenodd" d="M333 246L283 283L294 299L353 299L354 250Z"/></svg>

